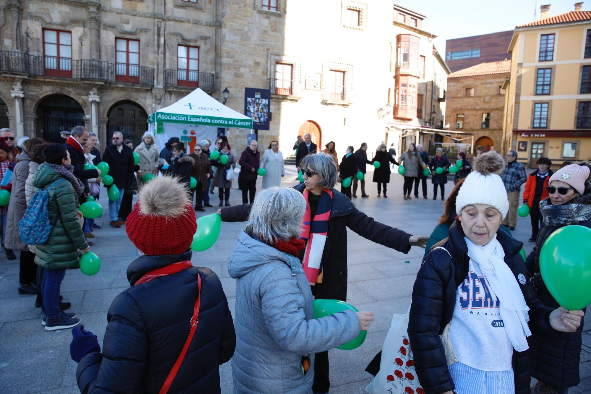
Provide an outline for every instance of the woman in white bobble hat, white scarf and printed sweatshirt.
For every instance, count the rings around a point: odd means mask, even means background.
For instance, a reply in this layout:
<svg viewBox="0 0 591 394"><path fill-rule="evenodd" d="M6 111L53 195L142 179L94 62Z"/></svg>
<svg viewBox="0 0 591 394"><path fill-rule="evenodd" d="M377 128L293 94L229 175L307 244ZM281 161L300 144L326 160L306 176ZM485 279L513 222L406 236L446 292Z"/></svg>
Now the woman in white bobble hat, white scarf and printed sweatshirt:
<svg viewBox="0 0 591 394"><path fill-rule="evenodd" d="M509 211L504 167L496 152L476 159L449 237L417 274L408 337L426 392L529 392L531 331L557 337L581 324L582 311L548 308L536 298L523 244L499 228Z"/></svg>

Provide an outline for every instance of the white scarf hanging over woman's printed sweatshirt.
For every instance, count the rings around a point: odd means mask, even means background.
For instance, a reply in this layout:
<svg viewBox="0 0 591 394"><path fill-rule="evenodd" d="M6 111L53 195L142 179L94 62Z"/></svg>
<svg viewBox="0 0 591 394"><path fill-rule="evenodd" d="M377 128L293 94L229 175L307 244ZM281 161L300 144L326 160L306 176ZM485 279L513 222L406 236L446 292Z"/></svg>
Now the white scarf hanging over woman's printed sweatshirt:
<svg viewBox="0 0 591 394"><path fill-rule="evenodd" d="M480 270L485 274L500 301L499 311L513 348L517 351L527 350L529 346L526 337L531 335L527 324L530 321L527 314L530 308L525 303L514 274L504 261L505 251L496 240L496 234L485 246L478 246L466 237L464 239L472 263L479 264Z"/></svg>

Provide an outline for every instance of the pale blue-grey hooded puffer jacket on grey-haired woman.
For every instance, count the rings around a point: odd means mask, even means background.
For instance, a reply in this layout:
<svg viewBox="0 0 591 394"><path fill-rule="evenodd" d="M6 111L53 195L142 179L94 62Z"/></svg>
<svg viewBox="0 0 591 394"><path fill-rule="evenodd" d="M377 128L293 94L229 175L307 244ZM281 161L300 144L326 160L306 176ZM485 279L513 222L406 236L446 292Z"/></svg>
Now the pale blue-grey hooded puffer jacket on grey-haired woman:
<svg viewBox="0 0 591 394"><path fill-rule="evenodd" d="M359 335L353 311L314 319L310 283L297 257L242 231L230 252L236 279L235 393L311 393L314 353ZM310 359L306 374L301 357Z"/></svg>

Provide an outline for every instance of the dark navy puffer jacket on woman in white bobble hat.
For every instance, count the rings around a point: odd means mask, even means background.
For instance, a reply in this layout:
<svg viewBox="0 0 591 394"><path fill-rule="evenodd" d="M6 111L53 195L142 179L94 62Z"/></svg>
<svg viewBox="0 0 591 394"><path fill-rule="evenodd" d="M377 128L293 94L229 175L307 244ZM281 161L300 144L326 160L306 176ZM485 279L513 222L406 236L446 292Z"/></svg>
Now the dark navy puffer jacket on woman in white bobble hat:
<svg viewBox="0 0 591 394"><path fill-rule="evenodd" d="M514 240L505 231L496 232L496 239L505 251L505 263L511 268L517 280L518 275L527 274L525 262L519 250L523 243ZM470 258L464 240L462 226L454 222L449 229L449 238L432 250L417 274L413 288L413 303L408 321L408 337L414 354L414 366L421 386L427 394L439 394L453 390L455 385L447 369L445 350L440 334L452 320L453 308L457 303L457 286L468 274ZM519 283L519 282L518 282ZM536 297L529 281L519 284L527 306L530 307L530 330L542 335L560 335L550 327L548 315L553 310L545 307ZM530 392L530 362L527 351L513 352L515 393Z"/></svg>

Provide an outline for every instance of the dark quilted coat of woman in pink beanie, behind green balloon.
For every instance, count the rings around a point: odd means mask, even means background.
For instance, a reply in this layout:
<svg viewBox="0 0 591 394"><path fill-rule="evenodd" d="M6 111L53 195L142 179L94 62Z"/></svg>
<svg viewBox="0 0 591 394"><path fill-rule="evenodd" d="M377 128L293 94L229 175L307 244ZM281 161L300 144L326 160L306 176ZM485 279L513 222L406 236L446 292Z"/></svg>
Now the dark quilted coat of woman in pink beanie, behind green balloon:
<svg viewBox="0 0 591 394"><path fill-rule="evenodd" d="M548 199L549 200L549 199ZM591 194L583 195L571 200L577 204L591 204ZM591 219L578 223L585 227L591 227ZM534 278L534 287L538 289L538 298L550 308L558 308L554 299L540 274L540 250L546 238L562 225L551 226L543 224L535 240L534 250L525 261L530 276ZM583 311L586 311L584 308ZM530 344L530 367L531 376L541 380L552 387L572 387L579 385L579 361L581 355L581 333L583 332L583 321L575 332L564 334L563 338L552 340L550 338L532 335L528 339Z"/></svg>

